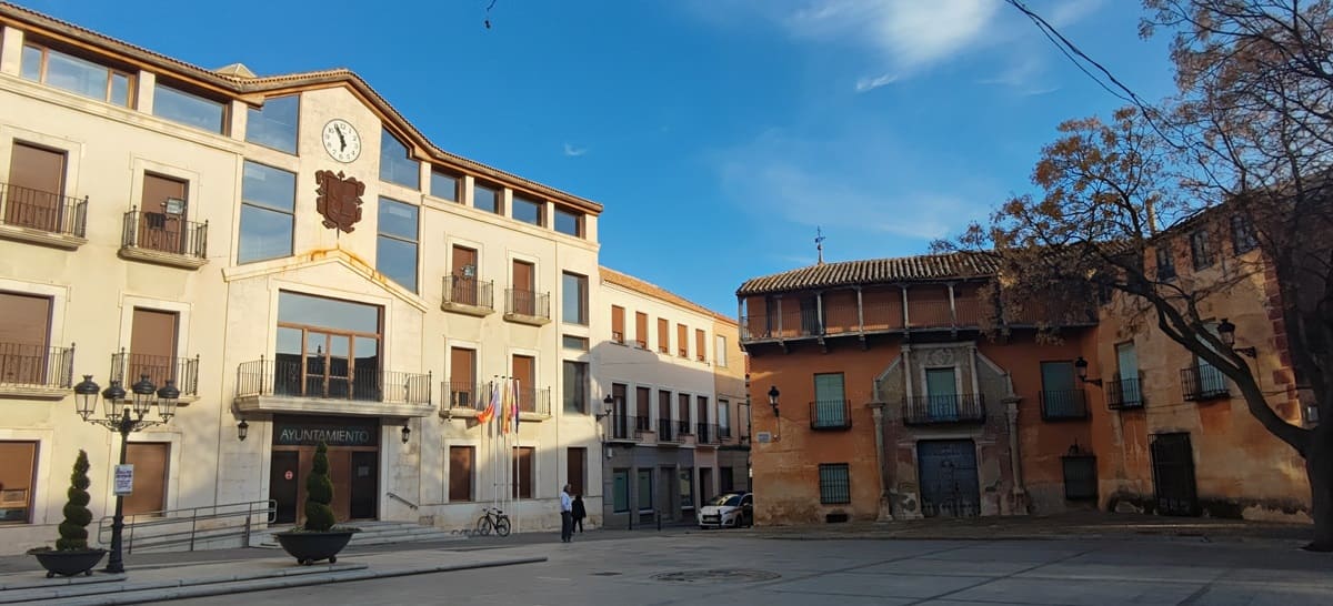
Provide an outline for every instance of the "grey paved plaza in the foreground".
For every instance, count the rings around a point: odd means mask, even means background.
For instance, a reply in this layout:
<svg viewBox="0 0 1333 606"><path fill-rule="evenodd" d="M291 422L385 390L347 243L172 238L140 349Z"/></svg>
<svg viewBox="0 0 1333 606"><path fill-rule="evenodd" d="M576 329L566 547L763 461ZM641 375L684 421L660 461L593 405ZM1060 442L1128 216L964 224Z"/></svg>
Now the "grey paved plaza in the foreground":
<svg viewBox="0 0 1333 606"><path fill-rule="evenodd" d="M415 553L444 558L456 547ZM714 531L571 545L552 538L487 551L548 559L177 603L1333 605L1333 555L1285 542L774 539Z"/></svg>

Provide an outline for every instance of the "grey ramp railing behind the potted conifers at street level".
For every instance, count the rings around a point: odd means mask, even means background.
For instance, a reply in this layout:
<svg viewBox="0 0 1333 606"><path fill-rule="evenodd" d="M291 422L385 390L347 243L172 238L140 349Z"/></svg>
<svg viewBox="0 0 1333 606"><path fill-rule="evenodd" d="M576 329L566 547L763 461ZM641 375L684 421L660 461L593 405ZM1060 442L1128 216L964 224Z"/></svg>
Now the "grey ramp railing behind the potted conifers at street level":
<svg viewBox="0 0 1333 606"><path fill-rule="evenodd" d="M121 531L125 553L135 547L175 547L187 545L193 551L197 543L239 537L243 547L256 526L265 527L277 518L277 501L251 501L239 503L204 505L200 507L168 509L125 515ZM111 542L113 518L107 515L97 523L97 539Z"/></svg>

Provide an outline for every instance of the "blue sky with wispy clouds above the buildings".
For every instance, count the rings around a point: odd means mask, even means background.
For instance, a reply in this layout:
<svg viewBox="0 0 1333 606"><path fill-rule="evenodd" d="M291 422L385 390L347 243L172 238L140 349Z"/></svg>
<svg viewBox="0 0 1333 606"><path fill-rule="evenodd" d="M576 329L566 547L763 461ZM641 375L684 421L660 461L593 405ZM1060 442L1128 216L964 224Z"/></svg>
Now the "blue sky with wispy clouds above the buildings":
<svg viewBox="0 0 1333 606"><path fill-rule="evenodd" d="M603 202L604 265L728 316L816 226L828 261L924 253L1121 105L1002 0L497 0L487 29L489 1L24 5L205 68L351 68L441 148ZM1028 5L1172 92L1138 3Z"/></svg>

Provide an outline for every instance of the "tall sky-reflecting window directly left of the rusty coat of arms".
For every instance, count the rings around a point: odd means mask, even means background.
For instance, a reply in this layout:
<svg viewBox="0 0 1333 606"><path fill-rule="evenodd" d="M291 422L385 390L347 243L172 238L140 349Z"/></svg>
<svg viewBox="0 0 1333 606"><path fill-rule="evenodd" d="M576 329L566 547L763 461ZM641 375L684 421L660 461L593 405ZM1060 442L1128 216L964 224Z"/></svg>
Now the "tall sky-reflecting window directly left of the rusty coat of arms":
<svg viewBox="0 0 1333 606"><path fill-rule="evenodd" d="M291 256L295 206L295 173L245 161L236 262Z"/></svg>

